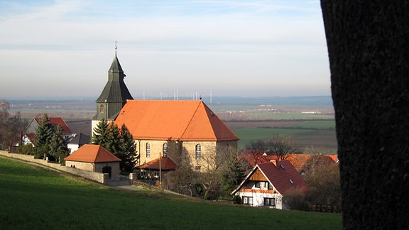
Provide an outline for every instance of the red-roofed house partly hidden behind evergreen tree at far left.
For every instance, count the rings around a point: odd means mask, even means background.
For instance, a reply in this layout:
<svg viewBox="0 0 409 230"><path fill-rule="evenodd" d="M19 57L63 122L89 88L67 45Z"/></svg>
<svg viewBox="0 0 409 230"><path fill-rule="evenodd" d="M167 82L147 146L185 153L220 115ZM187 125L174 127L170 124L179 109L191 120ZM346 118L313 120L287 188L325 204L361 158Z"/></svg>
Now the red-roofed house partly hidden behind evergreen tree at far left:
<svg viewBox="0 0 409 230"><path fill-rule="evenodd" d="M70 127L68 127L67 123L65 123L65 121L61 117L49 117L48 119L50 120L50 123L53 124L53 126L61 126L65 140L70 141L71 138L75 136L75 133L72 133ZM31 143L34 146L36 130L40 121L40 117L36 117L30 121L30 123L26 127L26 130L23 131L23 144Z"/></svg>

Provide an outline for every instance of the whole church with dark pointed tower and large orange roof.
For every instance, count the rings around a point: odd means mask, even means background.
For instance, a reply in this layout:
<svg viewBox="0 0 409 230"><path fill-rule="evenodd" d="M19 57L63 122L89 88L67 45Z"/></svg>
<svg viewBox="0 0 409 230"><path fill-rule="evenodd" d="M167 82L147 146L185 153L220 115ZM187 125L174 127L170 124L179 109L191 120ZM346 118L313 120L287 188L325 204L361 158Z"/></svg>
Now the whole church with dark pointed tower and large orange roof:
<svg viewBox="0 0 409 230"><path fill-rule="evenodd" d="M108 82L97 99L92 131L105 119L125 124L136 143L137 166L170 158L178 166L214 170L223 156L237 151L239 138L201 100L134 100L124 83L124 70L115 56Z"/></svg>

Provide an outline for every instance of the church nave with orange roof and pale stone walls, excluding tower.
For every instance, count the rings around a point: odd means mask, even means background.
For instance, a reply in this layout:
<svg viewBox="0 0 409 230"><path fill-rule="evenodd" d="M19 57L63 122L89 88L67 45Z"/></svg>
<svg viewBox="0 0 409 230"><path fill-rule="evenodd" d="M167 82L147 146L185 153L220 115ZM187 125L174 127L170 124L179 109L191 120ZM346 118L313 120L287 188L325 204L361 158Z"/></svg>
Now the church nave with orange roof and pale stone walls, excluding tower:
<svg viewBox="0 0 409 230"><path fill-rule="evenodd" d="M129 129L140 165L159 156L179 165L186 156L196 170L212 170L239 140L202 101L128 100L114 122Z"/></svg>

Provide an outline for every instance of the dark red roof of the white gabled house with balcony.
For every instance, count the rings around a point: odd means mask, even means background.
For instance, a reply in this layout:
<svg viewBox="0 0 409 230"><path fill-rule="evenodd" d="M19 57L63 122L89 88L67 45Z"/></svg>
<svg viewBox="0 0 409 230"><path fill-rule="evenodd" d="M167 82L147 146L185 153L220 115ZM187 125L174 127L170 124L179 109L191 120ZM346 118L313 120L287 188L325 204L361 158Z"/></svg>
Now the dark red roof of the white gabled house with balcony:
<svg viewBox="0 0 409 230"><path fill-rule="evenodd" d="M269 163L261 163L256 165L253 170L247 175L246 179L241 182L239 187L236 188L231 194L239 191L241 186L249 180L251 175L257 170L260 170L266 180L268 180L273 187L280 192L281 195L286 195L293 189L307 190L307 184L302 179L300 173L295 170L294 166L289 160L279 160ZM268 191L268 190L266 190Z"/></svg>

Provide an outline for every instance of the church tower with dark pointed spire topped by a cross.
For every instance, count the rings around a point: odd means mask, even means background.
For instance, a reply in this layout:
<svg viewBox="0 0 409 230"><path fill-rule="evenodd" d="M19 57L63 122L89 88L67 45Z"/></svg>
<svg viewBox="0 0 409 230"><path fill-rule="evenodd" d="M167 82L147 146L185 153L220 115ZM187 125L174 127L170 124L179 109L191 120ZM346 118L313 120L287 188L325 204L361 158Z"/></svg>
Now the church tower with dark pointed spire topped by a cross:
<svg viewBox="0 0 409 230"><path fill-rule="evenodd" d="M115 45L115 57L108 70L108 82L97 99L97 115L92 120L92 132L102 119L113 121L126 101L133 99L125 85L124 77L126 75L119 64L118 57L116 57L116 49Z"/></svg>

